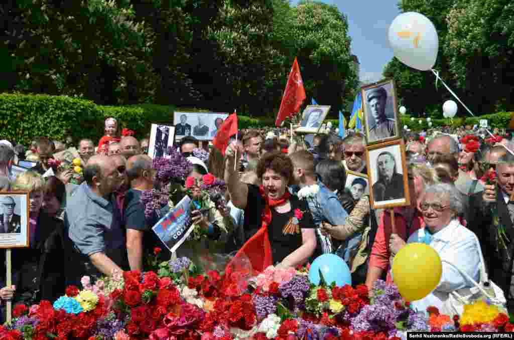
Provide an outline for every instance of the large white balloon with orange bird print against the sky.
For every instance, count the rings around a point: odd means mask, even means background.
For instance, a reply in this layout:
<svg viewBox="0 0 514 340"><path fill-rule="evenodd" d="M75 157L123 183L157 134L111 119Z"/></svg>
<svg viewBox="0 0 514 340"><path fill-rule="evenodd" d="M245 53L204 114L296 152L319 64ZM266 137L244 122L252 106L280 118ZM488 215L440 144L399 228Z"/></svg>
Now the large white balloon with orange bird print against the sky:
<svg viewBox="0 0 514 340"><path fill-rule="evenodd" d="M395 17L389 27L389 45L403 64L426 71L437 59L439 38L428 17L406 12Z"/></svg>

